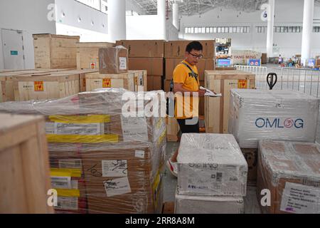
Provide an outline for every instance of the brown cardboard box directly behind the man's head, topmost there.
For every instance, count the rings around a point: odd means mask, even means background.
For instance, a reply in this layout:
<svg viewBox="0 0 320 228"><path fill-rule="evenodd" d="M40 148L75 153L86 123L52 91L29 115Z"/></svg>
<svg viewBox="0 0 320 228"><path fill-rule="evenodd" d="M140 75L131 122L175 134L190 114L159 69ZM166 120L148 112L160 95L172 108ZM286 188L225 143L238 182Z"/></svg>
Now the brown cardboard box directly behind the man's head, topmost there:
<svg viewBox="0 0 320 228"><path fill-rule="evenodd" d="M165 58L184 58L186 46L191 41L168 41L164 45ZM215 58L215 41L199 41L203 46L203 58Z"/></svg>

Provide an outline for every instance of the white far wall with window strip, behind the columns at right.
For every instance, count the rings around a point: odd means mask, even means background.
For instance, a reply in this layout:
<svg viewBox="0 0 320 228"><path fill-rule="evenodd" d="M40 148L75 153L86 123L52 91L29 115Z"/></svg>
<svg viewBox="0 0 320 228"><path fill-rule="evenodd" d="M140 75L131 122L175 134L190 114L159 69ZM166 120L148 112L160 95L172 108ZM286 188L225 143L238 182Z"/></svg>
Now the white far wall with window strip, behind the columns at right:
<svg viewBox="0 0 320 228"><path fill-rule="evenodd" d="M274 26L302 26L303 21L302 0L276 0ZM213 9L206 14L194 16L182 16L181 32L179 38L188 40L203 40L212 38L231 38L234 49L252 49L266 52L267 32L257 33L256 26L267 26L267 22L261 20L262 11L239 14L238 11ZM237 17L238 14L238 17ZM219 16L219 18L218 18ZM316 19L320 19L320 7L314 9L314 26ZM320 21L319 21L320 22ZM250 33L208 33L188 34L184 33L186 26L250 26ZM320 53L320 33L312 33L311 55ZM301 53L302 33L274 33L274 43L277 44L282 56L291 57ZM277 53L274 53L275 55Z"/></svg>

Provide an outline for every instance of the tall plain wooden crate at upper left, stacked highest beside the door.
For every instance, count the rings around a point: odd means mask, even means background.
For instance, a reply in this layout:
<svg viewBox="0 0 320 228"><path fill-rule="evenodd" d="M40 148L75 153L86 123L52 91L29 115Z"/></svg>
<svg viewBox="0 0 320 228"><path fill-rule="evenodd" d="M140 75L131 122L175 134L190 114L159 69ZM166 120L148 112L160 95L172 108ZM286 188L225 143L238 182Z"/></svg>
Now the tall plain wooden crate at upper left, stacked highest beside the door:
<svg viewBox="0 0 320 228"><path fill-rule="evenodd" d="M80 36L34 34L36 68L77 68L77 43Z"/></svg>

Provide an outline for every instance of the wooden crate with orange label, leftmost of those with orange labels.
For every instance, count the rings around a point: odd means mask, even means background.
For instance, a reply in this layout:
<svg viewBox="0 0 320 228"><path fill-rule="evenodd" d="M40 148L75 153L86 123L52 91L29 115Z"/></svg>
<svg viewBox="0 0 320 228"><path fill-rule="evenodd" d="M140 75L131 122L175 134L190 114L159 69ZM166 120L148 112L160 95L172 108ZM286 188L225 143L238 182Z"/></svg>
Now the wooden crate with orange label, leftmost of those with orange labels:
<svg viewBox="0 0 320 228"><path fill-rule="evenodd" d="M65 98L80 92L78 73L37 73L16 76L14 100L47 100Z"/></svg>

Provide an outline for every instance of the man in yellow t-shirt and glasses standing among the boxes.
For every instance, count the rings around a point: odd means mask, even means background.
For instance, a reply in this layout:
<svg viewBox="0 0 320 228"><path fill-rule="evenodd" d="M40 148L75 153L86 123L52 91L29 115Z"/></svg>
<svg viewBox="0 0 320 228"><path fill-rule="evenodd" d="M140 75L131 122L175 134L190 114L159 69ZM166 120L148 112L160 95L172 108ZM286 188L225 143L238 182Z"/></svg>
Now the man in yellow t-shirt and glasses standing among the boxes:
<svg viewBox="0 0 320 228"><path fill-rule="evenodd" d="M181 133L199 133L199 98L206 90L200 89L198 69L196 64L203 57L203 46L193 41L186 46L185 59L176 66L173 74L175 93L175 117ZM170 172L176 176L176 157L178 150L167 161Z"/></svg>

